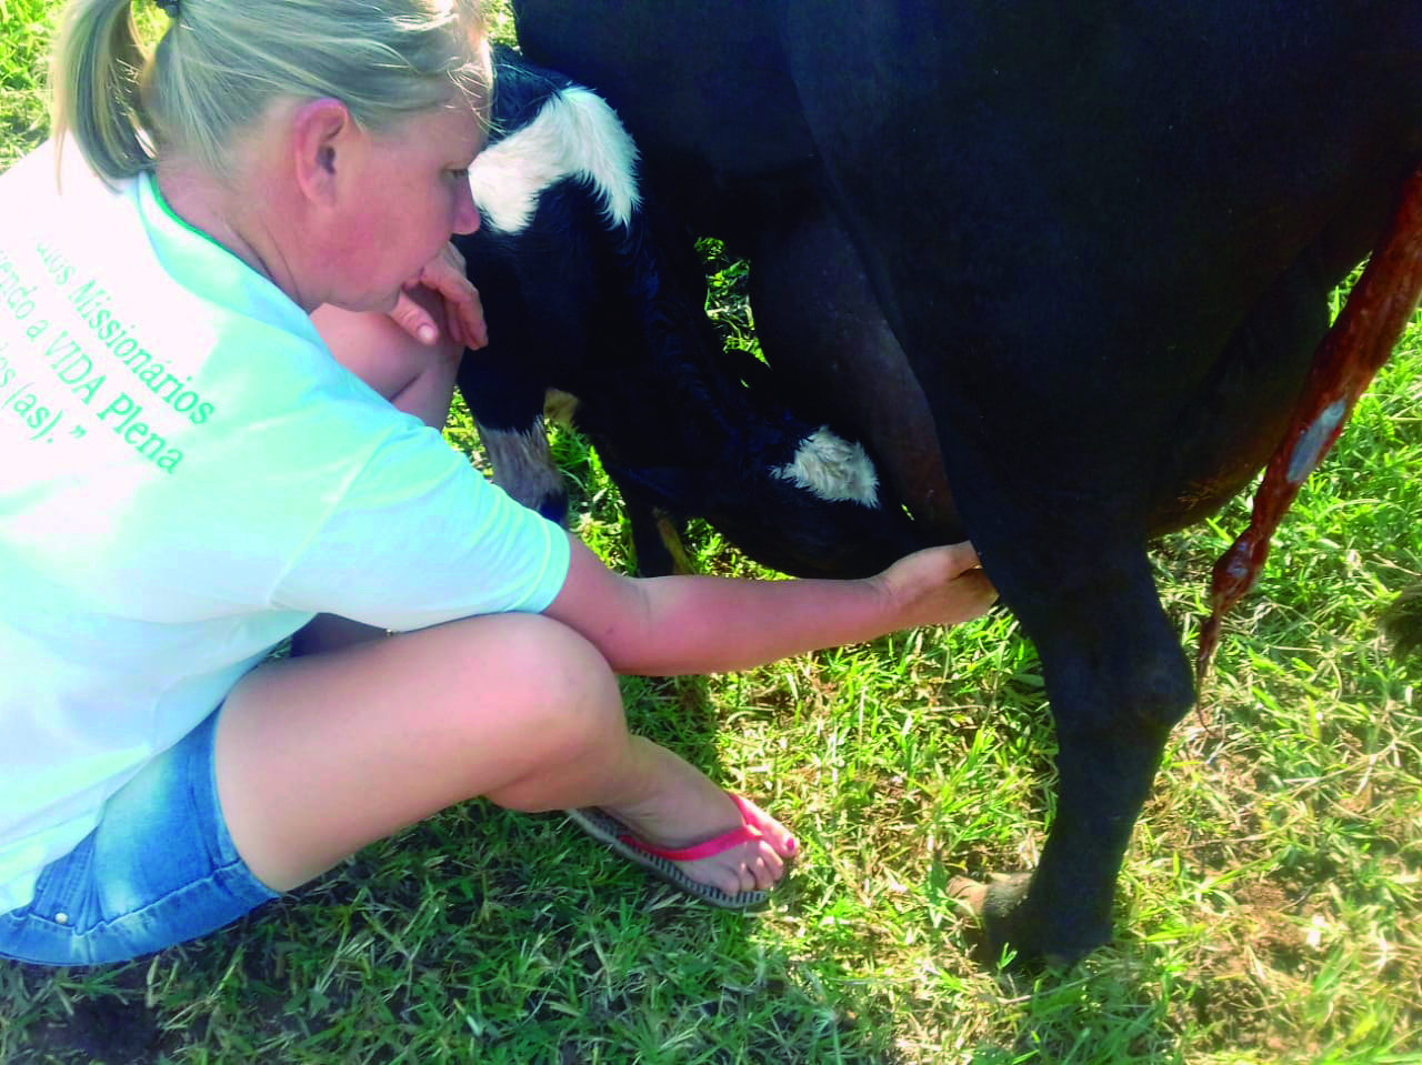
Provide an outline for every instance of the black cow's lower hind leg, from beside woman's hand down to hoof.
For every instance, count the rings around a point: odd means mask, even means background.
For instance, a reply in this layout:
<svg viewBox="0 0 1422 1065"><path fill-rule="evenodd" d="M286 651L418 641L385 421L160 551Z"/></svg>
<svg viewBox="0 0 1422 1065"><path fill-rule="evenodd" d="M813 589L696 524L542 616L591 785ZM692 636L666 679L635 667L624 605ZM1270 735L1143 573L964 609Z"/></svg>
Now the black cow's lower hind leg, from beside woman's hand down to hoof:
<svg viewBox="0 0 1422 1065"><path fill-rule="evenodd" d="M1057 724L1058 799L1031 877L964 893L994 954L1011 944L1021 957L1064 963L1111 936L1130 829L1170 727L1192 702L1190 671L1143 549L1102 540L1085 559L1069 555L1038 550L1022 566L998 553L988 567L1042 660ZM1089 576L1058 583L1048 576L1054 569Z"/></svg>

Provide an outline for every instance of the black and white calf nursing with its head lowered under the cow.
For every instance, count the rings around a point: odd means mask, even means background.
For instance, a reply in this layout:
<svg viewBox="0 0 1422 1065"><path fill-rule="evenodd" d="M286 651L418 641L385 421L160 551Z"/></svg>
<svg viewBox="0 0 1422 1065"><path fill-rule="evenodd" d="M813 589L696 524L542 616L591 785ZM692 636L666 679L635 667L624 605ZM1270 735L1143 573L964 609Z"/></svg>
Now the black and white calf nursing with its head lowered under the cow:
<svg viewBox="0 0 1422 1065"><path fill-rule="evenodd" d="M704 267L643 199L637 151L597 95L501 51L469 182L482 228L456 245L489 346L465 353L459 390L510 495L565 515L543 428L557 391L621 491L643 573L671 569L658 519L704 518L801 576L867 574L923 546L859 444L722 350Z"/></svg>

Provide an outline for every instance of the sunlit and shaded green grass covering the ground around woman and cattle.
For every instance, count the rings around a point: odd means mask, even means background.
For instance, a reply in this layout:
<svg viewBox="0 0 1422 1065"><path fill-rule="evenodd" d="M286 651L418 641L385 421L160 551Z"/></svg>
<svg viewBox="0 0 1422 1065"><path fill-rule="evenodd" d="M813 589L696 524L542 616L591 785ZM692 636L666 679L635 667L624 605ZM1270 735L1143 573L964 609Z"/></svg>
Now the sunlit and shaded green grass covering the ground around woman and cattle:
<svg viewBox="0 0 1422 1065"><path fill-rule="evenodd" d="M0 159L37 139L53 4L0 0ZM734 290L735 267L721 276ZM734 303L728 336L749 341ZM1121 879L1065 973L970 957L946 894L1030 866L1052 806L1041 673L994 614L737 675L626 683L636 728L806 842L764 914L708 911L557 816L474 802L206 940L127 965L0 963L6 1062L1422 1061L1416 658L1379 634L1422 570L1422 323L1359 404L1226 626ZM472 428L456 417L458 446ZM574 523L627 557L576 439ZM1155 555L1185 638L1244 503ZM710 572L751 567L711 530Z"/></svg>

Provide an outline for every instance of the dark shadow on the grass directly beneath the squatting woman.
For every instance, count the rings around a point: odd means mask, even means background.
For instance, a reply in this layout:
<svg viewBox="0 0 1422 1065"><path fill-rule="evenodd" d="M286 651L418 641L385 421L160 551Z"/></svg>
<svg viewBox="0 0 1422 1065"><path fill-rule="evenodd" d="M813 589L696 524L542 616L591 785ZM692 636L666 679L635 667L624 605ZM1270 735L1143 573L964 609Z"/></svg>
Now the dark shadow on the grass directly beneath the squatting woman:
<svg viewBox="0 0 1422 1065"><path fill-rule="evenodd" d="M195 944L91 970L0 963L0 1056L896 1059L852 1005L806 994L799 963L757 926L555 815L471 806Z"/></svg>

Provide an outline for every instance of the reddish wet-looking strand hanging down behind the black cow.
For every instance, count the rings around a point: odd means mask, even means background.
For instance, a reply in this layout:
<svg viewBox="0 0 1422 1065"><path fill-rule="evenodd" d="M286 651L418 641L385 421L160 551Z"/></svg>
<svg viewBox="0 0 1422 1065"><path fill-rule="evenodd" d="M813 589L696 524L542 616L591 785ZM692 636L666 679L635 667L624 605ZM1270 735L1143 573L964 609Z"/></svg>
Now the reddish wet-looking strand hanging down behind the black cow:
<svg viewBox="0 0 1422 1065"><path fill-rule="evenodd" d="M1388 361L1422 294L1422 168L1402 198L1332 328L1314 353L1294 415L1254 493L1249 528L1214 563L1210 617L1200 630L1196 681L1210 668L1224 613L1253 587L1284 512L1342 432L1354 404Z"/></svg>

